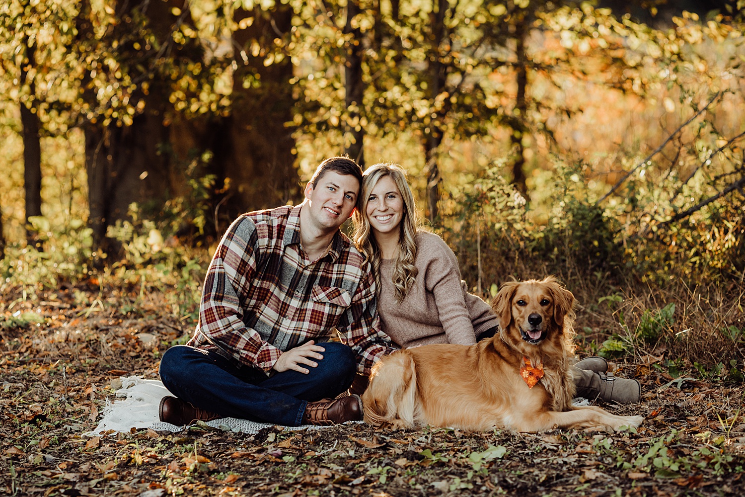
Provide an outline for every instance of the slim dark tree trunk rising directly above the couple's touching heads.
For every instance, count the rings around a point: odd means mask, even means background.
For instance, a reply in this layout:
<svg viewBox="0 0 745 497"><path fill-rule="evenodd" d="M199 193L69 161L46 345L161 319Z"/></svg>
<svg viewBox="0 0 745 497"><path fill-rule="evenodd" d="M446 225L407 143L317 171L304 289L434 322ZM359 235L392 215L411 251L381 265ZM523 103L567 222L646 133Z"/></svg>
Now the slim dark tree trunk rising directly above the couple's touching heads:
<svg viewBox="0 0 745 497"><path fill-rule="evenodd" d="M347 119L344 136L344 152L364 168L364 127L360 122L362 110L362 96L364 86L362 83L362 42L361 32L352 27L352 19L360 13L360 7L355 0L346 2L346 25L344 34L352 34L346 48L346 61L344 62L344 89Z"/></svg>

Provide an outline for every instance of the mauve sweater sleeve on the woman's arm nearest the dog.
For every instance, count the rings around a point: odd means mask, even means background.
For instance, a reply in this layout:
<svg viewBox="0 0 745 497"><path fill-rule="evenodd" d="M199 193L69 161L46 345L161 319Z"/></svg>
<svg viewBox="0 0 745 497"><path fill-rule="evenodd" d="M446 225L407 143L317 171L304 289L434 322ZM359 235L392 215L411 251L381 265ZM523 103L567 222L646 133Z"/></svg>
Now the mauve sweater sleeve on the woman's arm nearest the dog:
<svg viewBox="0 0 745 497"><path fill-rule="evenodd" d="M427 237L419 250L428 253L425 285L434 296L440 323L450 344L473 345L476 334L460 286L460 269L453 251L437 235Z"/></svg>

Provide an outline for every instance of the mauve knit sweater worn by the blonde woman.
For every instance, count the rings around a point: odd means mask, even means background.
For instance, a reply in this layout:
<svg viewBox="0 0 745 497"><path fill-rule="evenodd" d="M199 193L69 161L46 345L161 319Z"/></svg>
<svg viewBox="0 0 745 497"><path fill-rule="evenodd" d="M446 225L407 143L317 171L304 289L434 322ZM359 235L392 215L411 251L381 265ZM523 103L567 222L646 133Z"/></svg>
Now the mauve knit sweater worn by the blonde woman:
<svg viewBox="0 0 745 497"><path fill-rule="evenodd" d="M381 261L378 313L383 331L402 348L475 344L479 333L498 324L492 308L466 292L455 254L442 238L419 231L416 245L419 274L402 303L396 302L393 261Z"/></svg>

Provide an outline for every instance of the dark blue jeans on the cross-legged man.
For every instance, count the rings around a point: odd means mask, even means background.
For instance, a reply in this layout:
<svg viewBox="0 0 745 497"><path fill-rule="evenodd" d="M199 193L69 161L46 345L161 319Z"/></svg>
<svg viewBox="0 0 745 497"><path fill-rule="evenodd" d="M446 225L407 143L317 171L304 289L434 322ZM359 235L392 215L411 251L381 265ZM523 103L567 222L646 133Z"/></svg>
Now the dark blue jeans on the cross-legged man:
<svg viewBox="0 0 745 497"><path fill-rule="evenodd" d="M355 376L349 346L319 345L326 352L317 367L306 367L310 373L288 370L271 378L251 367L235 367L217 352L176 345L163 354L160 379L179 399L223 417L299 426L308 402L333 399Z"/></svg>

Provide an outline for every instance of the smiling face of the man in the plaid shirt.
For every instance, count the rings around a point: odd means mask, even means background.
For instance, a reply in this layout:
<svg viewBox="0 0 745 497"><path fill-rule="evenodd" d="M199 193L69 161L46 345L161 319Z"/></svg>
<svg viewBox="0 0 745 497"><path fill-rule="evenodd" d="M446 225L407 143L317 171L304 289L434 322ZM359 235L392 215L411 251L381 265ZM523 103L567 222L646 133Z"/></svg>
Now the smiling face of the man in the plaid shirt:
<svg viewBox="0 0 745 497"><path fill-rule="evenodd" d="M339 229L349 219L357 204L360 183L351 174L328 171L314 186L305 186L310 218L318 227Z"/></svg>

